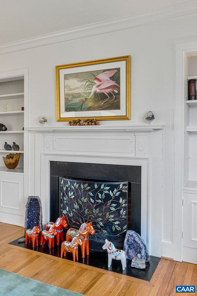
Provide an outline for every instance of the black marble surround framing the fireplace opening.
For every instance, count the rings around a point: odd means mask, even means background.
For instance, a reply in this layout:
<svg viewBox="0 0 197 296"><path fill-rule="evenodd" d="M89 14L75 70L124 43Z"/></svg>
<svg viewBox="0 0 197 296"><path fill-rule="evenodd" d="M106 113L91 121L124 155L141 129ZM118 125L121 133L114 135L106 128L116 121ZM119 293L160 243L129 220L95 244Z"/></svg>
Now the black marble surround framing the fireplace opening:
<svg viewBox="0 0 197 296"><path fill-rule="evenodd" d="M129 182L128 229L141 235L141 166L50 162L50 221L59 217L59 177Z"/></svg>

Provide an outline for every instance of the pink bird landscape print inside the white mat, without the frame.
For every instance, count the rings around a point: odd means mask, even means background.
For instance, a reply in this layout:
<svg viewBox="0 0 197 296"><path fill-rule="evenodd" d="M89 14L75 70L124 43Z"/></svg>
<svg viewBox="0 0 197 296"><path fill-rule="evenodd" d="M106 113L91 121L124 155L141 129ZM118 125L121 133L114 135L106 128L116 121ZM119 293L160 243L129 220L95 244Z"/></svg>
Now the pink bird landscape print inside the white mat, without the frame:
<svg viewBox="0 0 197 296"><path fill-rule="evenodd" d="M120 68L64 76L65 112L120 109Z"/></svg>

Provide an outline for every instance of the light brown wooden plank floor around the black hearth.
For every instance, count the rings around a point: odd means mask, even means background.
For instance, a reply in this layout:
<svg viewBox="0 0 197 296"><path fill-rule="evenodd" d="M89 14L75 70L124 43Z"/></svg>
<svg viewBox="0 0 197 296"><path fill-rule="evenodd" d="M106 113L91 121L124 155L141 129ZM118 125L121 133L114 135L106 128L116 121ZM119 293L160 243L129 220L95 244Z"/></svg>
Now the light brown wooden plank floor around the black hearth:
<svg viewBox="0 0 197 296"><path fill-rule="evenodd" d="M171 296L176 285L197 289L195 264L161 259L147 282L8 245L23 235L24 228L0 223L0 268L86 296Z"/></svg>

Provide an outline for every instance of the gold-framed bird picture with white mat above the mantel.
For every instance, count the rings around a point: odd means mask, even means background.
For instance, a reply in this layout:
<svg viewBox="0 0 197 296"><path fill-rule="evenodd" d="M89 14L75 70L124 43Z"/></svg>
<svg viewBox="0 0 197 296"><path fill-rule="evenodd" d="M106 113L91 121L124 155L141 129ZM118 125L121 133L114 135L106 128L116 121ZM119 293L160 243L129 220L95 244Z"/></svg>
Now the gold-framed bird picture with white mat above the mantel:
<svg viewBox="0 0 197 296"><path fill-rule="evenodd" d="M57 121L130 119L130 55L55 68Z"/></svg>

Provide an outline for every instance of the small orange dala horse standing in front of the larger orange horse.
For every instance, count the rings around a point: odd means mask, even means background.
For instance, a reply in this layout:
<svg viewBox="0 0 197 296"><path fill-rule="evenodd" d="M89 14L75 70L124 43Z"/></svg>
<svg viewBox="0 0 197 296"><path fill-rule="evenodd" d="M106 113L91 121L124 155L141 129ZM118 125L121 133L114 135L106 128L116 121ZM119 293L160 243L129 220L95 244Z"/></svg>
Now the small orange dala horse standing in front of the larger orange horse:
<svg viewBox="0 0 197 296"><path fill-rule="evenodd" d="M82 240L79 236L73 237L72 241L63 241L61 246L61 258L63 256L66 256L66 253L72 253L73 254L73 261L75 262L75 258L78 260L78 245L82 245Z"/></svg>

